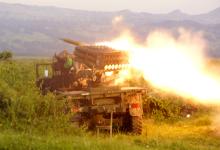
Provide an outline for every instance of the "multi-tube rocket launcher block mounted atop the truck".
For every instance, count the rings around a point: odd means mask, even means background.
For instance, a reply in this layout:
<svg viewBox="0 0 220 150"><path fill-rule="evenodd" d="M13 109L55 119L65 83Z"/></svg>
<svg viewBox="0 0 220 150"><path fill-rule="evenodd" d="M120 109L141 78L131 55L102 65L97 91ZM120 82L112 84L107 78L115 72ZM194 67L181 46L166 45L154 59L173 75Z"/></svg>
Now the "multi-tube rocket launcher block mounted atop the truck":
<svg viewBox="0 0 220 150"><path fill-rule="evenodd" d="M129 67L126 51L115 50L107 46L86 45L70 39L63 39L63 41L76 46L75 61L89 68L111 71Z"/></svg>

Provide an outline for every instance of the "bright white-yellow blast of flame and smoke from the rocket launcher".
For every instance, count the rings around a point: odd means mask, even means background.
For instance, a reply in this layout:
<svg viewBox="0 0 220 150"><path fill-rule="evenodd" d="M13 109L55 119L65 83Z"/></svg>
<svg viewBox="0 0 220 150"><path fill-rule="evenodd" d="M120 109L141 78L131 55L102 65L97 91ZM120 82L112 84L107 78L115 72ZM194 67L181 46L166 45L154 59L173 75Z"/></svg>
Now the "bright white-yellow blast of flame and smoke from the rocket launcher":
<svg viewBox="0 0 220 150"><path fill-rule="evenodd" d="M179 36L174 37L166 31L155 31L140 45L125 32L115 40L97 45L128 51L131 67L141 71L157 88L203 103L220 103L220 78L205 69L206 44L201 33L180 29ZM118 81L135 76L123 71Z"/></svg>

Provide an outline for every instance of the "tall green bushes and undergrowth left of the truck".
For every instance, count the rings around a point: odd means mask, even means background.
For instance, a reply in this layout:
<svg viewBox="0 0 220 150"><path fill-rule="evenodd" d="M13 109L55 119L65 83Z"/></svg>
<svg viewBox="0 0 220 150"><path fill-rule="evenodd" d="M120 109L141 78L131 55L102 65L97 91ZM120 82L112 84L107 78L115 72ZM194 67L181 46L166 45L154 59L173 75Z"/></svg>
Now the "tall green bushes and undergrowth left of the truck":
<svg viewBox="0 0 220 150"><path fill-rule="evenodd" d="M0 123L19 131L75 133L65 101L42 96L35 86L35 62L0 63Z"/></svg>

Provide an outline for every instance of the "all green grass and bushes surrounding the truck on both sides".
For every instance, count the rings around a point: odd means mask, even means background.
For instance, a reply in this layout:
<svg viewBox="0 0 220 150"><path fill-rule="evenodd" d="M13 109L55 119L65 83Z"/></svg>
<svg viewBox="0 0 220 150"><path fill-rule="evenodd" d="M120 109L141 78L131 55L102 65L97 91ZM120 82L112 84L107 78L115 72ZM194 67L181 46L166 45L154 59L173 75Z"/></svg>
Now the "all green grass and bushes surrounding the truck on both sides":
<svg viewBox="0 0 220 150"><path fill-rule="evenodd" d="M153 89L145 100L142 136L117 133L109 139L77 128L69 121L72 114L64 113L64 100L42 96L35 87L35 64L46 61L0 62L0 149L219 149L208 108L198 106L186 118L181 108L194 105Z"/></svg>

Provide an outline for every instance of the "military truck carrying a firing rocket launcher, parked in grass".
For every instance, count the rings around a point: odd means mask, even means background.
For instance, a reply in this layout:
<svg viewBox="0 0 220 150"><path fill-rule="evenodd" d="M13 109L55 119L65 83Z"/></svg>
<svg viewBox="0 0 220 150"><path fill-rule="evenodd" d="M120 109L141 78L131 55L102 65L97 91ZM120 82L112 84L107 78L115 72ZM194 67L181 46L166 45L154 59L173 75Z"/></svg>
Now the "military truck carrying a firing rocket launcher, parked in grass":
<svg viewBox="0 0 220 150"><path fill-rule="evenodd" d="M74 113L72 121L88 129L141 134L146 89L115 84L120 71L129 67L128 54L106 46L63 41L75 45L73 53L62 51L52 63L36 65L36 84L42 93L50 91L64 98Z"/></svg>

